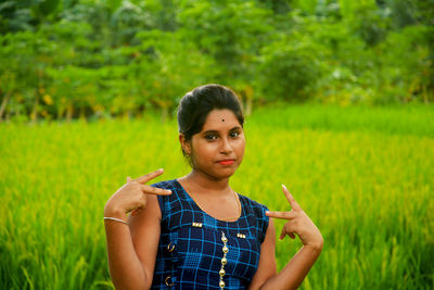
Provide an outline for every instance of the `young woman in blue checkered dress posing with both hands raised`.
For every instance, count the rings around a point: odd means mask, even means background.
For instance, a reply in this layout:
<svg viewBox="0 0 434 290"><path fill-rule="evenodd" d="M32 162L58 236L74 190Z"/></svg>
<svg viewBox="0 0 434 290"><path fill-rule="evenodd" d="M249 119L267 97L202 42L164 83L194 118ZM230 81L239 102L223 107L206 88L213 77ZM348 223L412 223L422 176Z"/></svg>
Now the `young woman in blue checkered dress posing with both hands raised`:
<svg viewBox="0 0 434 290"><path fill-rule="evenodd" d="M238 194L229 178L245 148L244 116L232 90L206 85L178 109L179 141L192 171L146 185L163 169L131 179L107 201L110 273L117 289L296 289L322 250L318 228L282 186L291 211ZM271 218L288 219L302 249L276 269Z"/></svg>

